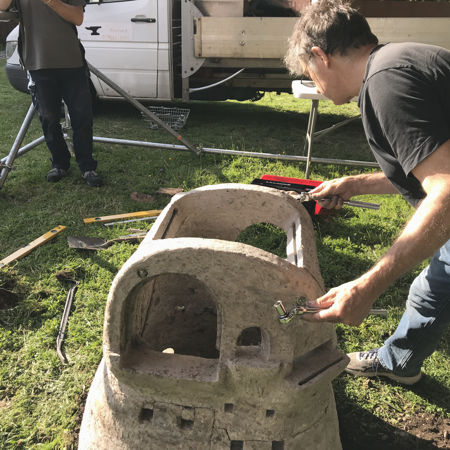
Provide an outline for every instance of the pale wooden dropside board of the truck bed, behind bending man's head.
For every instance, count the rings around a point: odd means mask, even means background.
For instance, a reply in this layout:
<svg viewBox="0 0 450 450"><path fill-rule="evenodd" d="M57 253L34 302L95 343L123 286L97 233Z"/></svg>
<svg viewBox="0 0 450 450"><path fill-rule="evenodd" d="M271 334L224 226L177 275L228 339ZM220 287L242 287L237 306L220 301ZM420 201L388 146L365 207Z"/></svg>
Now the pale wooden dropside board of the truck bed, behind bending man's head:
<svg viewBox="0 0 450 450"><path fill-rule="evenodd" d="M201 17L196 19L198 58L283 59L296 17ZM381 43L421 42L450 49L449 17L372 17Z"/></svg>

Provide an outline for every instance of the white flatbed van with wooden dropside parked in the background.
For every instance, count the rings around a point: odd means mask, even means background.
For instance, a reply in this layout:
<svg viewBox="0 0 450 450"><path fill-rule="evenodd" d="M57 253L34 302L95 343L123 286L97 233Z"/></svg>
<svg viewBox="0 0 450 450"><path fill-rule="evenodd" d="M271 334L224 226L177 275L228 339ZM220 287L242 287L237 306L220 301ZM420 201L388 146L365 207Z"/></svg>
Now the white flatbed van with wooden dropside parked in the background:
<svg viewBox="0 0 450 450"><path fill-rule="evenodd" d="M90 64L136 99L257 99L265 91L290 92L283 56L298 12L288 5L301 9L309 2L89 0L78 34ZM380 42L450 48L450 4L433 12L435 2L426 2L421 8L434 17L405 17L420 5L393 3L402 4L402 17L368 19ZM17 35L16 28L7 38L6 71L11 84L24 90ZM119 97L95 75L91 79L97 97Z"/></svg>

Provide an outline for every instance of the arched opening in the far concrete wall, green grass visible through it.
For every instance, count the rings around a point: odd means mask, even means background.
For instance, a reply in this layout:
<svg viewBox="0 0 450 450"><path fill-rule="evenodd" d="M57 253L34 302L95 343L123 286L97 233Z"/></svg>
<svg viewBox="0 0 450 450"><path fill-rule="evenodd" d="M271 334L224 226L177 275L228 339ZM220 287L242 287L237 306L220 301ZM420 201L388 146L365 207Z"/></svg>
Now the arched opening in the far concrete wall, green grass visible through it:
<svg viewBox="0 0 450 450"><path fill-rule="evenodd" d="M267 250L280 258L286 258L287 237L284 230L271 223L255 223L243 230L236 242Z"/></svg>

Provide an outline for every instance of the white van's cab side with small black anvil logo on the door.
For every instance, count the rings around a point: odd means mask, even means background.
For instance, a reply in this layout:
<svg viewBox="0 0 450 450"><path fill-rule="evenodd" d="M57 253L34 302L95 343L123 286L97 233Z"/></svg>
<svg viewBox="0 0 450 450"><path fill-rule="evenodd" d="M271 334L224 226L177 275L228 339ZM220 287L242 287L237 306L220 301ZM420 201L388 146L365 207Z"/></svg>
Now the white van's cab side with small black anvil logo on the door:
<svg viewBox="0 0 450 450"><path fill-rule="evenodd" d="M132 22L133 18L156 21ZM78 34L86 49L86 59L93 66L131 96L155 99L160 97L158 71L169 70L169 56L165 54L169 51L167 25L167 2L133 0L88 4ZM92 26L101 27L98 35L88 30ZM160 59L166 61L162 67L158 64ZM100 97L119 96L96 77L92 81ZM162 85L161 91L165 98L170 95L167 86Z"/></svg>

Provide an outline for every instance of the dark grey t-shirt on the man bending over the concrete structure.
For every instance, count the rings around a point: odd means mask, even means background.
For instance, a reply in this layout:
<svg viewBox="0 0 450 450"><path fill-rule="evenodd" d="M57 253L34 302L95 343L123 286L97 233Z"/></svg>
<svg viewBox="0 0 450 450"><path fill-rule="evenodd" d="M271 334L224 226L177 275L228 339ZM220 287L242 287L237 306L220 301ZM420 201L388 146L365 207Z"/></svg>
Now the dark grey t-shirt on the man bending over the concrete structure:
<svg viewBox="0 0 450 450"><path fill-rule="evenodd" d="M412 170L450 139L450 52L415 43L378 46L359 107L381 169L416 206L425 192Z"/></svg>

